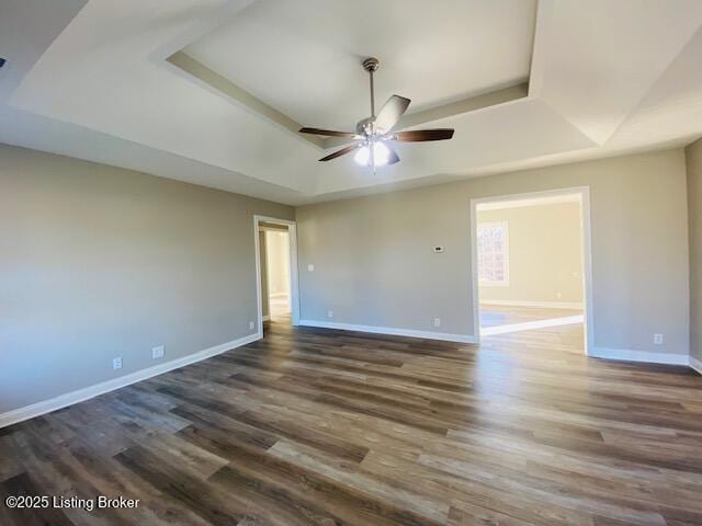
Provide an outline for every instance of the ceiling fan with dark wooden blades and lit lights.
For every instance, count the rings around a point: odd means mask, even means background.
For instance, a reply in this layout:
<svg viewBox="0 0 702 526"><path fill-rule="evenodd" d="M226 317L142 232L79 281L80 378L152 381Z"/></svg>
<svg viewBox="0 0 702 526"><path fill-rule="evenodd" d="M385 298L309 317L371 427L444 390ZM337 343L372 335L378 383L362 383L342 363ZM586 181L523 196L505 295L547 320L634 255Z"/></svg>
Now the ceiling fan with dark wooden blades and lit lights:
<svg viewBox="0 0 702 526"><path fill-rule="evenodd" d="M320 161L330 161L337 157L355 151L355 161L359 164L371 167L373 171L375 171L375 167L399 162L397 152L388 145L392 140L399 142L421 142L427 140L445 140L453 137L453 129L451 128L394 132L393 128L397 125L411 102L404 96L390 96L376 115L373 73L377 70L378 66L380 61L377 58L371 57L363 60L363 69L365 69L371 77L371 116L359 121L359 124L355 125L355 133L307 127L299 129L301 134L348 137L355 140L354 144L341 148L333 153L329 153L327 157L322 157L319 159Z"/></svg>

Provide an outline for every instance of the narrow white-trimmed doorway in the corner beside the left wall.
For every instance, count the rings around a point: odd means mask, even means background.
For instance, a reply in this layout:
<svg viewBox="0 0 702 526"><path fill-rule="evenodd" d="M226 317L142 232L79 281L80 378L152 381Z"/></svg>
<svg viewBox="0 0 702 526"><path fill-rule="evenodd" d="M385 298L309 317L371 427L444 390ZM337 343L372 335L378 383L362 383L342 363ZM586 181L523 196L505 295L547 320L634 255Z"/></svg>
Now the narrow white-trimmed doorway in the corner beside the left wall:
<svg viewBox="0 0 702 526"><path fill-rule="evenodd" d="M254 216L259 334L269 323L296 325L297 242L295 221Z"/></svg>

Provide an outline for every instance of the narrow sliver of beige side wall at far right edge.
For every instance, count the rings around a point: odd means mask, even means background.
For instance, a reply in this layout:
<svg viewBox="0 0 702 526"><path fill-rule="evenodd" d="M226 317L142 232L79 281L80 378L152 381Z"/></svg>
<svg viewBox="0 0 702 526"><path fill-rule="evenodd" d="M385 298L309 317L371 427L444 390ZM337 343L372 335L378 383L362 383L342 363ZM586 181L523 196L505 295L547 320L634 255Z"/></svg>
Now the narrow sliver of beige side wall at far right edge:
<svg viewBox="0 0 702 526"><path fill-rule="evenodd" d="M702 362L702 139L684 150L690 218L690 354Z"/></svg>

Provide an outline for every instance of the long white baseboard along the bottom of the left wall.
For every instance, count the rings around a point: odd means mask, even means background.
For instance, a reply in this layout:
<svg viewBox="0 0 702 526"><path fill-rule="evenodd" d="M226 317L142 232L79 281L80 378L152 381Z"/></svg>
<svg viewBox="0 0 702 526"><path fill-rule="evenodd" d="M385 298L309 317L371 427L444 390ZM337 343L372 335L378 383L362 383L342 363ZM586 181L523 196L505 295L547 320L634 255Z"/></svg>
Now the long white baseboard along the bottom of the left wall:
<svg viewBox="0 0 702 526"><path fill-rule="evenodd" d="M246 345L247 343L256 342L261 338L262 335L258 332L249 334L248 336L233 340L231 342L205 348L204 351L200 351L199 353L189 354L188 356L183 356L182 358L172 359L163 364L155 365L154 367L149 367L147 369L137 370L135 373L131 373L112 380L103 381L101 384L95 384L94 386L67 392L66 395L59 395L58 397L43 400L31 405L25 405L24 408L13 409L12 411L0 414L0 428L8 425L16 424L18 422L22 422L24 420L33 419L35 416L41 416L42 414L50 413L52 411L56 411L67 405L82 402L100 395L104 395L105 392L114 391L115 389L136 384L137 381L146 380L154 376L162 375L163 373L168 373L169 370L178 369L180 367L194 364L195 362L201 362L231 348L240 347L241 345Z"/></svg>

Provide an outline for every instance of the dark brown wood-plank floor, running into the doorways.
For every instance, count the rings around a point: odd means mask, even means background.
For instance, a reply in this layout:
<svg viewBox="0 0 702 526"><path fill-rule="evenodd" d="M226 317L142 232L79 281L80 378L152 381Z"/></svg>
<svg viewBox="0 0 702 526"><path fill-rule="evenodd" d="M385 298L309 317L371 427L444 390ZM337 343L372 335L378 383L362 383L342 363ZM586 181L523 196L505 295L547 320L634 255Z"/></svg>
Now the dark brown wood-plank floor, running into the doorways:
<svg viewBox="0 0 702 526"><path fill-rule="evenodd" d="M264 340L0 430L4 525L702 525L702 378L588 359L581 327L472 345Z"/></svg>

